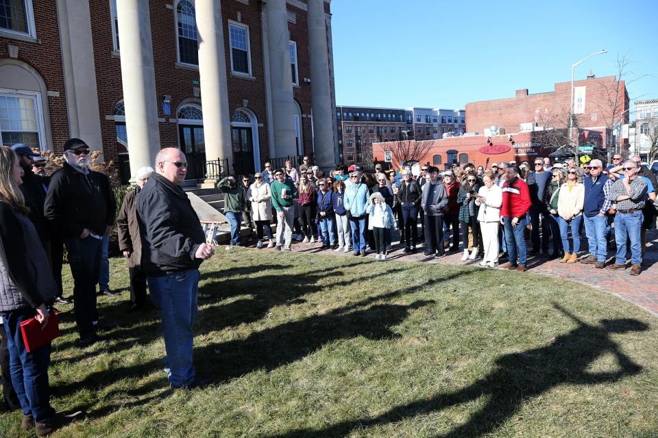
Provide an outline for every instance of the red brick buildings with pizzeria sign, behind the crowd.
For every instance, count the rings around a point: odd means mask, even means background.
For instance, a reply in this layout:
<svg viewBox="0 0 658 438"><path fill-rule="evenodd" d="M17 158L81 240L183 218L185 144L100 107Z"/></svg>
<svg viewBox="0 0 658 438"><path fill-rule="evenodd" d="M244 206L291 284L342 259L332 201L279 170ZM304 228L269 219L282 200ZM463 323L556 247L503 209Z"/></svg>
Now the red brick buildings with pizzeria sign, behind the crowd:
<svg viewBox="0 0 658 438"><path fill-rule="evenodd" d="M514 98L467 103L467 133L432 140L430 152L421 162L439 168L466 163L491 167L494 162L520 163L548 157L569 141L570 86L570 82L562 82L555 84L553 92L528 94L528 90L517 90ZM578 104L583 105L582 113L575 114L578 144L591 147L593 154L597 150L600 153L615 142L611 127L620 129L628 123L626 86L616 77L602 77L576 81L574 87L579 88L576 97L581 97ZM385 152L394 147L390 142L374 144L374 160L385 161Z"/></svg>

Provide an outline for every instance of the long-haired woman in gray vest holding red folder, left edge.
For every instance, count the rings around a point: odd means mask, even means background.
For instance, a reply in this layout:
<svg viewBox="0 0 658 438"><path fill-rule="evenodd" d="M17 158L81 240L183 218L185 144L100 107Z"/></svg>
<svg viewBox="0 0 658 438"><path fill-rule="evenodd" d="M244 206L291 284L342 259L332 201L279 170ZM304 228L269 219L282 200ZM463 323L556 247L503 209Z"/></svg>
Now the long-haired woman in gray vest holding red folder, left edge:
<svg viewBox="0 0 658 438"><path fill-rule="evenodd" d="M21 322L36 318L44 329L50 321L49 303L59 294L50 263L29 209L19 190L23 183L19 157L0 147L0 315L7 335L10 374L23 409L23 428L48 435L62 425L50 406L48 365L50 343L27 352Z"/></svg>

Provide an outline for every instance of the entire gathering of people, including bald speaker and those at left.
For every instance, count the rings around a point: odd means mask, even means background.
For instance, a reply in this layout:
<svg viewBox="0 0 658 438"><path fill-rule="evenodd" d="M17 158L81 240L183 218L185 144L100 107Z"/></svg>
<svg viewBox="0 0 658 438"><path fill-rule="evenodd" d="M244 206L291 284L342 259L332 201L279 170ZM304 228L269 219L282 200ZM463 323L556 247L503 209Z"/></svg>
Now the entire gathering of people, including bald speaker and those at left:
<svg viewBox="0 0 658 438"><path fill-rule="evenodd" d="M113 324L101 320L97 296L109 290L107 253L114 227L110 180L90 168L90 149L77 138L64 144L62 168L45 174L45 163L25 144L0 147L0 368L3 398L23 411L23 428L44 436L71 421L49 398L50 344L27 351L21 322L49 324L51 306L62 297L62 257L73 276L73 314L81 348L103 340ZM614 155L577 166L573 159L533 166L500 162L403 167L363 172L337 166L324 175L304 157L298 168L265 164L255 175L228 175L217 183L230 222L228 250L247 241L256 248L292 250L293 241L319 250L374 253L389 258L399 233L402 253L423 251L441 258L463 253L464 262L525 271L528 253L561 263L589 263L609 270L642 272L646 231L653 229L657 183L637 156ZM160 309L166 356L174 388L198 385L192 361L199 266L215 250L206 242L181 188L187 163L179 149L162 149L155 168L136 172L136 186L117 216L119 248L130 278L130 311ZM271 225L276 222L276 233ZM613 238L612 238L613 236ZM588 250L581 250L587 238ZM532 248L526 249L526 241ZM265 243L267 242L267 244ZM421 248L422 247L422 248ZM504 263L502 263L504 261ZM502 263L499 265L499 262ZM97 290L97 285L99 289Z"/></svg>

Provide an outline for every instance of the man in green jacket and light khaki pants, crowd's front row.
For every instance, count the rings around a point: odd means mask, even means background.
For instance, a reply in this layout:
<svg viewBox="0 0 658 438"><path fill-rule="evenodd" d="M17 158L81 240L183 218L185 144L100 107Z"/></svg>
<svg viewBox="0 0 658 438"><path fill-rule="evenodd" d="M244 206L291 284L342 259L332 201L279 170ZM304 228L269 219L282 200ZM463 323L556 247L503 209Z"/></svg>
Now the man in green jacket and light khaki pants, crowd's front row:
<svg viewBox="0 0 658 438"><path fill-rule="evenodd" d="M277 211L276 224L276 249L292 250L293 243L293 220L295 220L295 207L293 202L299 196L297 188L291 179L286 179L281 169L274 171L274 179L270 184L272 206ZM285 235L284 235L285 233Z"/></svg>

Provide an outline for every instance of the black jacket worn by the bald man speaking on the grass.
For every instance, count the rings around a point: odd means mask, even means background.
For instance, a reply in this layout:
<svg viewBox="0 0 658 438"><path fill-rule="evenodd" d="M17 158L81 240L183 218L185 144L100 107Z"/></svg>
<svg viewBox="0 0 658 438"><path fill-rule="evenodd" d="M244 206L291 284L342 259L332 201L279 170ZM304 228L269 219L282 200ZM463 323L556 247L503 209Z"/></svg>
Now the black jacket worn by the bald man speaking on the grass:
<svg viewBox="0 0 658 438"><path fill-rule="evenodd" d="M197 269L204 229L183 190L158 173L137 197L137 224L142 240L142 268L148 276Z"/></svg>

